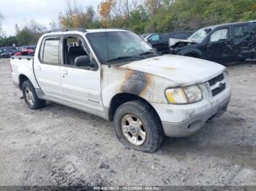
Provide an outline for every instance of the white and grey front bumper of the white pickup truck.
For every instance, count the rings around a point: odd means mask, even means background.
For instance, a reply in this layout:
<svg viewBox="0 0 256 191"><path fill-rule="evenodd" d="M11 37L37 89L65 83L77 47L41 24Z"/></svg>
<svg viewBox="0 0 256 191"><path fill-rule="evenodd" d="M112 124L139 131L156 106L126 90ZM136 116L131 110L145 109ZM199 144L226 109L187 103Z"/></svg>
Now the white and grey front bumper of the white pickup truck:
<svg viewBox="0 0 256 191"><path fill-rule="evenodd" d="M201 89L203 86L201 87ZM206 92L206 91L204 91ZM191 136L211 117L219 117L227 110L231 90L227 87L222 93L212 98L204 95L203 101L187 105L152 104L159 114L166 136Z"/></svg>

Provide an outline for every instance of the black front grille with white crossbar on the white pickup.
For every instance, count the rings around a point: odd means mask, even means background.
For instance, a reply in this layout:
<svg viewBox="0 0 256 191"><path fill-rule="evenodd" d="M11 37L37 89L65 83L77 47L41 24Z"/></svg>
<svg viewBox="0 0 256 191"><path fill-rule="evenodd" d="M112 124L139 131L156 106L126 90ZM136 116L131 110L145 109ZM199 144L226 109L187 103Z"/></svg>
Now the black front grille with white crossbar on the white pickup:
<svg viewBox="0 0 256 191"><path fill-rule="evenodd" d="M208 81L210 87L211 87L211 94L212 96L218 95L223 90L226 89L226 81L224 74L220 74L217 77L214 77L213 79L210 79Z"/></svg>

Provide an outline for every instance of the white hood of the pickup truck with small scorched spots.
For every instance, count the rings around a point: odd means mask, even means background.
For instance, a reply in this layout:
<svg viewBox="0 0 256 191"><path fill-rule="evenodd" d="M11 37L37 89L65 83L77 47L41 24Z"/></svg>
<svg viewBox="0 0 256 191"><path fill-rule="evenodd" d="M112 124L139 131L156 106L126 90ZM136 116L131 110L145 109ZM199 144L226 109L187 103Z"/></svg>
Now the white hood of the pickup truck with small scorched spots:
<svg viewBox="0 0 256 191"><path fill-rule="evenodd" d="M162 55L119 67L163 77L177 86L207 82L225 71L225 67L218 63L180 55Z"/></svg>

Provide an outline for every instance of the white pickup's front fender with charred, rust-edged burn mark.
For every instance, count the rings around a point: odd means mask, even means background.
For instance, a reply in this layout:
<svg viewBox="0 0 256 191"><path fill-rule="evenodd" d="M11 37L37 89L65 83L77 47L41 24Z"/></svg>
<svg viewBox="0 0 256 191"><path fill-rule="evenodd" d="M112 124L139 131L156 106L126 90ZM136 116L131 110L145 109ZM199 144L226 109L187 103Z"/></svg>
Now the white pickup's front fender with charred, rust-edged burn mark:
<svg viewBox="0 0 256 191"><path fill-rule="evenodd" d="M148 66L148 63L143 63ZM142 65L143 65L142 64ZM136 64L138 66L139 63ZM149 64L151 65L151 64ZM122 66L106 66L101 68L102 102L109 107L112 98L119 93L131 93L144 98L146 101L167 104L165 89L175 87L176 82L165 77L151 74L153 66L147 71L129 68L129 64ZM170 68L172 68L170 66ZM165 69L167 71L167 69Z"/></svg>

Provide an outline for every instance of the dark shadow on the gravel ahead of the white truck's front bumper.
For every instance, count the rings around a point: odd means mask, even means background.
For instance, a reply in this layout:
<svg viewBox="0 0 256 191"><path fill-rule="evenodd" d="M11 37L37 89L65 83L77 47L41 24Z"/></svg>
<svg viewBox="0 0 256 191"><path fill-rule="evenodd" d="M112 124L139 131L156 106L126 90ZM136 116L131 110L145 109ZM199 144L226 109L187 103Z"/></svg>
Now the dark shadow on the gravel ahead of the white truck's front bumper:
<svg viewBox="0 0 256 191"><path fill-rule="evenodd" d="M206 123L198 133L187 138L165 138L160 153L176 157L178 161L191 156L198 161L201 157L217 158L215 161L227 160L230 164L256 170L255 131L249 132L235 116L226 116L222 120L223 124L220 120Z"/></svg>

